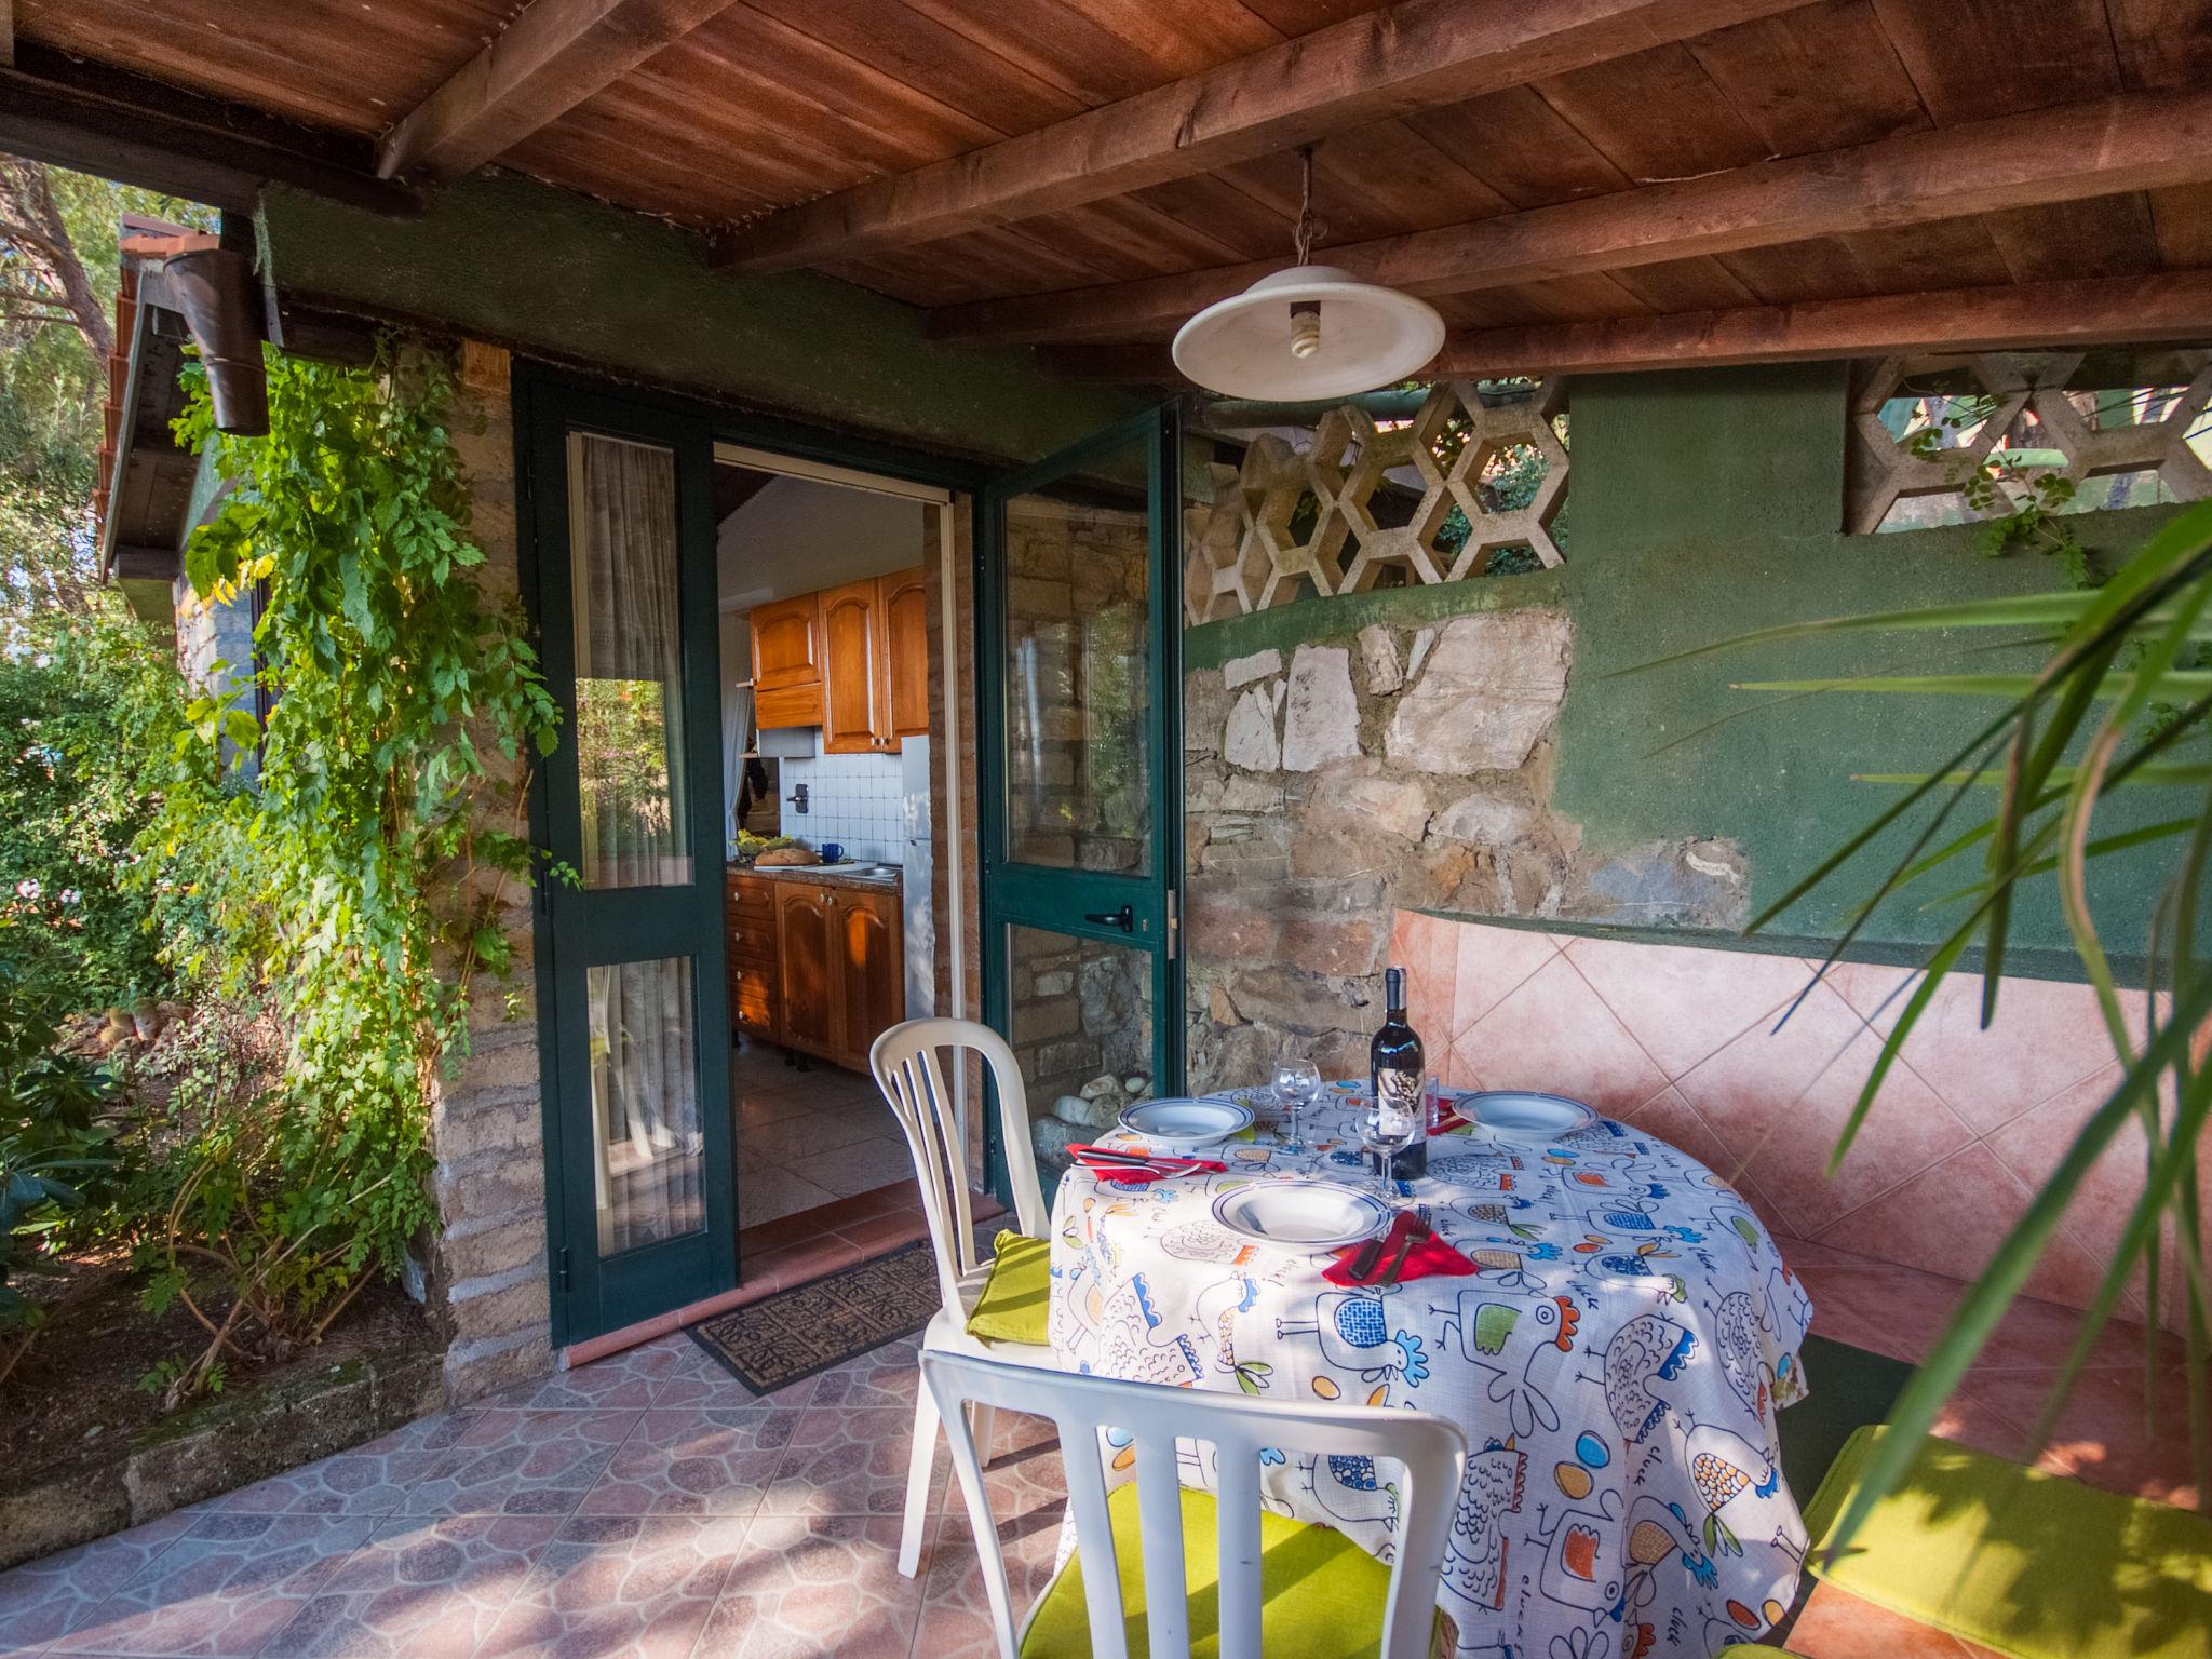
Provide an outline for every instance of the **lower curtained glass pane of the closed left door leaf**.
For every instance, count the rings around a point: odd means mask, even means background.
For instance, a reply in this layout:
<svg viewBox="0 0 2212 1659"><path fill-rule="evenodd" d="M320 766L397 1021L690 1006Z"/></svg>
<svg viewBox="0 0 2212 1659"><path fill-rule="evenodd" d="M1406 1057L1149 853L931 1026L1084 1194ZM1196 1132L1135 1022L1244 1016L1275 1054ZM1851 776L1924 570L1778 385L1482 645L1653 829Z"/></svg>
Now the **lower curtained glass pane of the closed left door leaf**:
<svg viewBox="0 0 2212 1659"><path fill-rule="evenodd" d="M699 1232L703 1133L692 964L584 971L599 1254Z"/></svg>

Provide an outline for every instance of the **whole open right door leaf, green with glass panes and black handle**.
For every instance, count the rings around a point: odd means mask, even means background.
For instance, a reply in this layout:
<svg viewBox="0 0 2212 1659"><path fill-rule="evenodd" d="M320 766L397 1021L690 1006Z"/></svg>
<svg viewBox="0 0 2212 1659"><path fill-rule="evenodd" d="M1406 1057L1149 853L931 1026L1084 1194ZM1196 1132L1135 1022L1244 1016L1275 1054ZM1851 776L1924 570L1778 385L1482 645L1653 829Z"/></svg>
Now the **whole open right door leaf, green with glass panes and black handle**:
<svg viewBox="0 0 2212 1659"><path fill-rule="evenodd" d="M1150 411L982 495L984 1006L1033 1115L1183 1082L1175 438Z"/></svg>

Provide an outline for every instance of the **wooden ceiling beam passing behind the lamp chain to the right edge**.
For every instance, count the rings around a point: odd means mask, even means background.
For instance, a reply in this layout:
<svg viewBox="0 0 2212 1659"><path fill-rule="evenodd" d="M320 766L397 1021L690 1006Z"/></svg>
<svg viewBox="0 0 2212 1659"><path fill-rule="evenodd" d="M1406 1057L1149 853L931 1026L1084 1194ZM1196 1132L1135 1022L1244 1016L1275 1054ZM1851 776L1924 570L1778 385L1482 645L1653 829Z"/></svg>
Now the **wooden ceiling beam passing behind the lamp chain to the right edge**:
<svg viewBox="0 0 2212 1659"><path fill-rule="evenodd" d="M2212 91L2130 93L1347 243L1323 257L1413 294L1467 294L2205 179ZM1281 263L947 305L929 314L929 332L949 341L1146 338Z"/></svg>

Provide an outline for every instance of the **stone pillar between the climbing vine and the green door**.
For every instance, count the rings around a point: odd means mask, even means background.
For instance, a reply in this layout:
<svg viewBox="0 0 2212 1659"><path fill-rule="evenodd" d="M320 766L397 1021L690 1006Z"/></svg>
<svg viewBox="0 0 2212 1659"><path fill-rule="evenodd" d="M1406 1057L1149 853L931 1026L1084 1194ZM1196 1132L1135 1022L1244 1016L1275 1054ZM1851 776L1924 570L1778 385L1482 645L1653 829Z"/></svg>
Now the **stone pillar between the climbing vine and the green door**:
<svg viewBox="0 0 2212 1659"><path fill-rule="evenodd" d="M460 367L449 429L469 480L471 533L484 549L478 580L493 599L511 599L520 562L507 352L465 343ZM489 745L484 752L498 765ZM511 827L522 779L502 783L480 810ZM440 1082L431 1110L440 1234L429 1292L456 1402L553 1369L531 894L509 880L498 900L518 969L507 982L471 987L471 1053Z"/></svg>

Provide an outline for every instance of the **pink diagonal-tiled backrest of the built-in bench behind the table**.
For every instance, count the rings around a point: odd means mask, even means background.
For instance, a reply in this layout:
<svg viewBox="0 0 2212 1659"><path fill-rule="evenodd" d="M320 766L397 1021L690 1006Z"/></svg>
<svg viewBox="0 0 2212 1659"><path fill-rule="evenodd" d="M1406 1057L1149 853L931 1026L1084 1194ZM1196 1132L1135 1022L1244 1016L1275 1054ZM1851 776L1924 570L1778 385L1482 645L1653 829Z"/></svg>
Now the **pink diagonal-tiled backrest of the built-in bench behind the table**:
<svg viewBox="0 0 2212 1659"><path fill-rule="evenodd" d="M1909 969L1838 967L1774 1031L1816 964L1413 911L1398 911L1391 956L1409 969L1409 1018L1447 1084L1571 1095L1688 1150L1785 1237L1785 1254L1787 1239L1814 1239L1971 1279L2119 1077L2088 987L2008 978L1982 1031L1980 978L1953 978L1829 1177L1836 1130ZM2141 993L2126 1000L2141 1029ZM2090 1301L2141 1170L2130 1124L2068 1208L2028 1294ZM2139 1283L2126 1312L2143 1314ZM2177 1298L2166 1312L2179 1325Z"/></svg>

